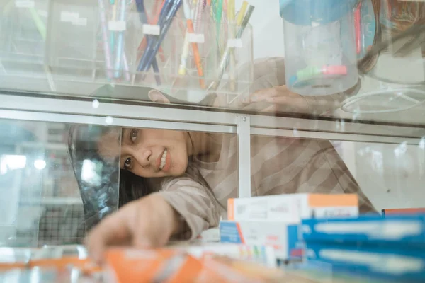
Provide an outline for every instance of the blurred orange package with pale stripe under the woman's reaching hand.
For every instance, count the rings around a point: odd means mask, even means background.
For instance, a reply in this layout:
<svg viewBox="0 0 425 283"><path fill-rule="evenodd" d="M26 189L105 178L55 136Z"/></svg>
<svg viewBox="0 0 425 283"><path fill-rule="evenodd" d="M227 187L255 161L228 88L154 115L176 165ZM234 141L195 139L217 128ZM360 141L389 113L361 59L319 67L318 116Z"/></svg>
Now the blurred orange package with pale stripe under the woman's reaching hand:
<svg viewBox="0 0 425 283"><path fill-rule="evenodd" d="M106 279L111 283L196 282L202 264L178 250L111 249L106 252Z"/></svg>

